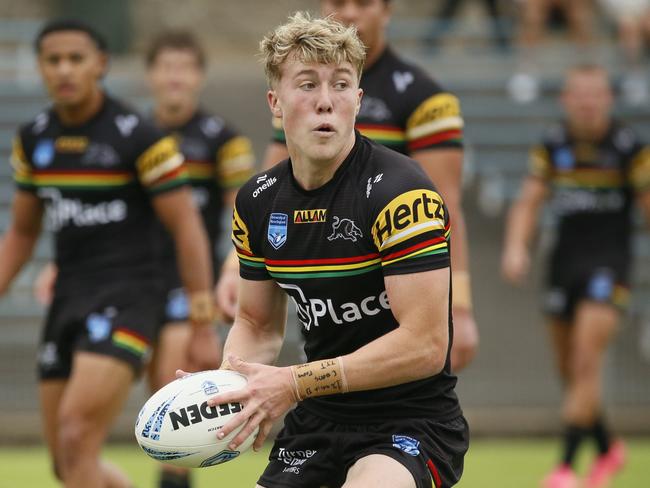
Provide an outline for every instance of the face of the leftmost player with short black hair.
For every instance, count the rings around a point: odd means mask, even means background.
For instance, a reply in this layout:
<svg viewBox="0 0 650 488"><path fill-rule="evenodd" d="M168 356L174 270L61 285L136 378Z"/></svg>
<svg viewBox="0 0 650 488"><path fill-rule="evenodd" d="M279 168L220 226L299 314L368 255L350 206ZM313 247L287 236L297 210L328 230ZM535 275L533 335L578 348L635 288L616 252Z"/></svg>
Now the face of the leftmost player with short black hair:
<svg viewBox="0 0 650 488"><path fill-rule="evenodd" d="M74 107L90 100L106 64L106 55L85 32L53 32L41 40L38 67L56 105Z"/></svg>

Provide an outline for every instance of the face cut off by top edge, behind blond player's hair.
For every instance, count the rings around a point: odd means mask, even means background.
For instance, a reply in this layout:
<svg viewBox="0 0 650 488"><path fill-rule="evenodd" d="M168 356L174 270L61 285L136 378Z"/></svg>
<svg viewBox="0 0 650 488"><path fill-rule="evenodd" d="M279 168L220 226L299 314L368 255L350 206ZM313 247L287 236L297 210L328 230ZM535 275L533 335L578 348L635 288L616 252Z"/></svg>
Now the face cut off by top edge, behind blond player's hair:
<svg viewBox="0 0 650 488"><path fill-rule="evenodd" d="M370 50L384 38L390 20L390 7L384 0L321 0L321 11L345 25L354 25Z"/></svg>

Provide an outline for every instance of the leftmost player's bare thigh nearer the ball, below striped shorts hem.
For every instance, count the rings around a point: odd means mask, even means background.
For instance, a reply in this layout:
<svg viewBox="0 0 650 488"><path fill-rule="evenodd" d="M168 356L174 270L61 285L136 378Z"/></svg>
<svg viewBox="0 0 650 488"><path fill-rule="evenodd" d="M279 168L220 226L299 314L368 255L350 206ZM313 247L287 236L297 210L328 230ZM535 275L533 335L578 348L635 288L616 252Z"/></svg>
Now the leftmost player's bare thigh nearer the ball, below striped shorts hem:
<svg viewBox="0 0 650 488"><path fill-rule="evenodd" d="M125 361L92 352L76 352L58 422L90 424L93 428L88 435L103 438L122 408L133 380L133 368Z"/></svg>

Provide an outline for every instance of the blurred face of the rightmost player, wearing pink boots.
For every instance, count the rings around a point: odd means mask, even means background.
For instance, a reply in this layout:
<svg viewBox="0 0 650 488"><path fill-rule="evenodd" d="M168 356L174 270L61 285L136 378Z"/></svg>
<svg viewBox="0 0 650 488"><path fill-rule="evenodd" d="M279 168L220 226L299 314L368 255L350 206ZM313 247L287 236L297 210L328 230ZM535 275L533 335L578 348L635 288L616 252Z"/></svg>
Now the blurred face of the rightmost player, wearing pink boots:
<svg viewBox="0 0 650 488"><path fill-rule="evenodd" d="M582 126L600 124L609 117L612 103L612 89L605 73L589 71L569 75L562 93L562 104L571 123Z"/></svg>

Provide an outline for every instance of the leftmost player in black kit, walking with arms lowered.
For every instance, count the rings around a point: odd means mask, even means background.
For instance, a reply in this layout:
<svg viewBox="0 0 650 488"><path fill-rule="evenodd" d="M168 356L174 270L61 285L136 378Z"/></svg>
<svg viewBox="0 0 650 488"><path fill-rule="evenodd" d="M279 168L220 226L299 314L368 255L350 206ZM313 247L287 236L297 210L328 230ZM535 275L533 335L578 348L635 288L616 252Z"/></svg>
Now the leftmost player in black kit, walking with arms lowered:
<svg viewBox="0 0 650 488"><path fill-rule="evenodd" d="M152 231L174 236L194 322L197 367L218 355L209 251L175 141L107 95L106 44L54 21L38 34L53 105L23 126L12 154L17 191L0 245L0 294L29 259L44 210L59 270L38 357L45 437L66 487L128 487L100 461L108 429L146 362L159 315Z"/></svg>

